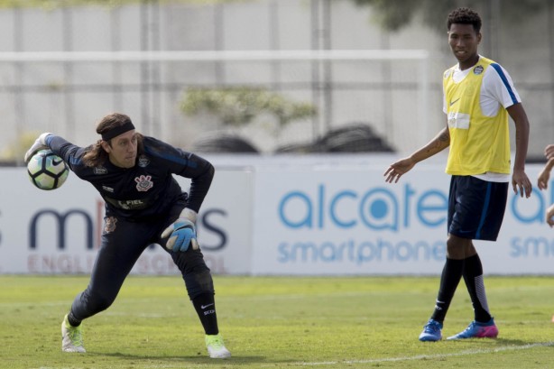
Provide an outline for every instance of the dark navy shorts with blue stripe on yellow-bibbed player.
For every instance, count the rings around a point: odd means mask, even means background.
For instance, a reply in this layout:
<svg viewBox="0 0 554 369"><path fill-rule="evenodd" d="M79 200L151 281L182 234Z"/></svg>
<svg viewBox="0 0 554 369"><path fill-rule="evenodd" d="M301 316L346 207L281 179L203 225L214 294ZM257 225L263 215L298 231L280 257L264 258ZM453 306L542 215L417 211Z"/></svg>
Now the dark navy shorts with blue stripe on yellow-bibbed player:
<svg viewBox="0 0 554 369"><path fill-rule="evenodd" d="M508 182L452 176L448 197L448 233L472 240L496 241L507 199Z"/></svg>

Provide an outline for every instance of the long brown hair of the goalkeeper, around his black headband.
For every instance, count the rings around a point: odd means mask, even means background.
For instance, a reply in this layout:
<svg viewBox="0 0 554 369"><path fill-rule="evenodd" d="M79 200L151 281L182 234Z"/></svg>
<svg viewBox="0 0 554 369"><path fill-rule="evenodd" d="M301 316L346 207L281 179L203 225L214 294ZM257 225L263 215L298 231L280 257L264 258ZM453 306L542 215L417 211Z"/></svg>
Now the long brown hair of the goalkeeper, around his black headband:
<svg viewBox="0 0 554 369"><path fill-rule="evenodd" d="M120 125L125 125L126 123L131 122L131 118L125 114L112 113L103 117L100 122L97 124L97 134L106 134L108 131L118 127ZM137 155L143 152L143 135L136 134L137 142ZM107 144L112 145L112 140L108 140ZM102 147L102 140L98 140L97 143L93 143L88 146L85 154L83 155L83 162L88 167L97 167L104 164L109 155Z"/></svg>

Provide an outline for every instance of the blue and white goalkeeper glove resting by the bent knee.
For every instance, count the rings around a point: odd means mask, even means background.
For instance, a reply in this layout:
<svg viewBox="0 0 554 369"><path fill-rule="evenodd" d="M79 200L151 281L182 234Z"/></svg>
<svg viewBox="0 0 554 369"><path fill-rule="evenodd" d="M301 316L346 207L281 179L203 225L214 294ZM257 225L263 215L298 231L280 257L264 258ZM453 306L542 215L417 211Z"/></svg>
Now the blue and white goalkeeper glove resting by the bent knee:
<svg viewBox="0 0 554 369"><path fill-rule="evenodd" d="M197 213L194 210L185 208L179 218L171 225L165 228L162 238L169 236L165 248L174 252L185 252L192 246L192 250L199 249L199 243L196 239Z"/></svg>

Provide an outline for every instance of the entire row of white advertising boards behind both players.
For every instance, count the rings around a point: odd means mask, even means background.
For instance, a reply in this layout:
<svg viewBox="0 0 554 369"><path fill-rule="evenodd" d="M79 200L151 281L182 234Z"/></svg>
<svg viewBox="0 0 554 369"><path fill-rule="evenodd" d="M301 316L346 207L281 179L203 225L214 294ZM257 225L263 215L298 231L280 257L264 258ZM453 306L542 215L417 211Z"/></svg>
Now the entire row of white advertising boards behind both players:
<svg viewBox="0 0 554 369"><path fill-rule="evenodd" d="M384 161L330 167L262 159L216 168L199 215L199 242L213 272L441 272L449 183L443 164L420 163L396 184L384 182ZM533 183L541 168L527 166ZM90 272L103 217L96 190L74 175L60 189L34 189L23 168L0 169L0 180L0 272ZM476 242L486 273L554 274L554 229L543 219L553 188L535 187L528 199L510 193L498 241ZM177 270L154 245L133 272Z"/></svg>

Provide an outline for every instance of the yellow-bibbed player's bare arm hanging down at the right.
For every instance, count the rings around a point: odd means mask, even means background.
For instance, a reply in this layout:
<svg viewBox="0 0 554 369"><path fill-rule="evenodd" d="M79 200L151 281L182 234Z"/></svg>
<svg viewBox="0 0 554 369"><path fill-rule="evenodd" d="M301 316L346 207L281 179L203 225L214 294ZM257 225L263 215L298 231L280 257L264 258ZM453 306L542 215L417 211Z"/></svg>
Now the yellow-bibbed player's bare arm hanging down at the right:
<svg viewBox="0 0 554 369"><path fill-rule="evenodd" d="M526 198L531 196L531 180L525 174L525 158L529 144L529 120L521 103L506 109L515 124L515 160L513 162L512 188L514 193L520 193Z"/></svg>

